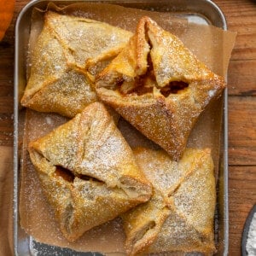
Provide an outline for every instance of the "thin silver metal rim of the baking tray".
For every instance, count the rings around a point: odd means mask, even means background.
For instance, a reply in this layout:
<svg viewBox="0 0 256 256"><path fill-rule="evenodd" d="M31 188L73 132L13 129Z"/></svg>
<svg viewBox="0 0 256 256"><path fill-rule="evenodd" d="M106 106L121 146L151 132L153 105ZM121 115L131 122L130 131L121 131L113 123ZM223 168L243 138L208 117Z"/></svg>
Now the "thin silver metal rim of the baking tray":
<svg viewBox="0 0 256 256"><path fill-rule="evenodd" d="M145 1L140 0L117 0L119 3L145 3ZM117 1L113 0L53 0L53 1L47 1L47 0L32 0L31 2L27 3L23 9L21 9L19 15L17 16L17 20L15 22L15 70L14 70L14 85L15 85L15 91L14 91L14 209L13 209L13 248L14 248L14 254L19 255L18 253L18 225L19 225L19 131L18 131L18 120L19 120L19 67L18 67L18 61L19 61L19 26L20 21L23 17L23 15L26 15L26 12L31 9L35 4L38 3L79 3L79 2L94 2L94 3L116 3ZM152 1L152 0L151 0ZM161 0L160 0L161 1ZM171 0L172 1L172 0ZM170 1L170 2L171 2ZM174 2L188 2L189 0L174 0ZM226 19L224 17L224 13L222 10L218 7L218 5L211 0L198 0L196 3L201 2L205 4L209 4L212 9L216 11L216 13L219 15L220 18L220 24L221 26L218 26L222 28L224 31L228 29ZM154 2L153 2L154 3ZM196 4L195 4L196 6ZM195 8L196 10L196 8ZM198 10L197 10L198 11ZM200 13L198 11L198 13ZM227 75L225 76L225 80L227 82ZM228 198L228 88L226 87L224 89L224 108L223 108L223 185L224 185L224 251L223 255L228 255L229 253L229 198Z"/></svg>

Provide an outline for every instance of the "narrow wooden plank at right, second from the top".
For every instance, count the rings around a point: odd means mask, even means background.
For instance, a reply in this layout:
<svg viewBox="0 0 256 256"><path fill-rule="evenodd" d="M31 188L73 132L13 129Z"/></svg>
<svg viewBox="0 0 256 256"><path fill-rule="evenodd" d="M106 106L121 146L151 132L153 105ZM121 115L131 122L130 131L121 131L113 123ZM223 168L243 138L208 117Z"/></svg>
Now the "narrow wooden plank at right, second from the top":
<svg viewBox="0 0 256 256"><path fill-rule="evenodd" d="M228 88L229 95L256 95L256 59L230 61Z"/></svg>

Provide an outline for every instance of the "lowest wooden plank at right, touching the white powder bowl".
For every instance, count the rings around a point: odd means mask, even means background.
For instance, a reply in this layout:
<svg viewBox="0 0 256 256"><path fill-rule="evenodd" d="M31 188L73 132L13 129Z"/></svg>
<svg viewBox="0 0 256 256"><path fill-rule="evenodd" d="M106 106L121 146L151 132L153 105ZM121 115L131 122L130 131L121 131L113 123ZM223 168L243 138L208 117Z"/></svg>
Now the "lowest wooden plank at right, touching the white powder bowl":
<svg viewBox="0 0 256 256"><path fill-rule="evenodd" d="M230 166L230 253L241 255L241 235L248 212L256 202L256 166Z"/></svg>

